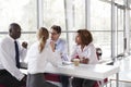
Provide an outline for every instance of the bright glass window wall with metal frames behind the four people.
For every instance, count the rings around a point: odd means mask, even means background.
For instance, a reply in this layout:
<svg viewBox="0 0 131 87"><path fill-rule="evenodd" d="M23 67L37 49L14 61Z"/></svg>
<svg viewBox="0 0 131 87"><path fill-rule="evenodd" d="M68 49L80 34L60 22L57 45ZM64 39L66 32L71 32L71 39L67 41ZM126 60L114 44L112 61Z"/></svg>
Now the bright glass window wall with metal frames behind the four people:
<svg viewBox="0 0 131 87"><path fill-rule="evenodd" d="M103 50L102 58L115 59L131 53L130 13L131 0L0 0L0 39L14 22L22 26L21 40L29 46L39 27L60 25L70 54L75 32L87 28L95 47Z"/></svg>

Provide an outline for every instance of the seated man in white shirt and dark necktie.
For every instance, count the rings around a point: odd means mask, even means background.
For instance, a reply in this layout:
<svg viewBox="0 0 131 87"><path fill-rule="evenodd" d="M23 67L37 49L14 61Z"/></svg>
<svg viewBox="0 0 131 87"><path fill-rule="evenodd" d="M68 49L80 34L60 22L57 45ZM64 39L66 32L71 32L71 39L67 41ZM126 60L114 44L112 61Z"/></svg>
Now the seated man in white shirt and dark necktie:
<svg viewBox="0 0 131 87"><path fill-rule="evenodd" d="M20 42L21 26L10 24L9 36L0 44L0 84L5 87L21 87L25 85L26 75L20 71L20 59L24 61L27 42ZM15 41L15 42L14 42Z"/></svg>

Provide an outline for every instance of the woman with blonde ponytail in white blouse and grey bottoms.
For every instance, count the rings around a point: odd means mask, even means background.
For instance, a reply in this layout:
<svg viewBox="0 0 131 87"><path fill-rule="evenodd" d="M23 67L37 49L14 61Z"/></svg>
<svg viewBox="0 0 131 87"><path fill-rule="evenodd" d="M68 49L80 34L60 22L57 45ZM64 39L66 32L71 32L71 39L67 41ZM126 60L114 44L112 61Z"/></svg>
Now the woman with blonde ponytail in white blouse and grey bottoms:
<svg viewBox="0 0 131 87"><path fill-rule="evenodd" d="M36 41L27 52L28 75L26 87L57 87L45 80L44 72L48 62L52 65L61 63L60 54L55 52L55 44L47 44L49 33L47 28L40 27ZM59 61L58 61L59 60Z"/></svg>

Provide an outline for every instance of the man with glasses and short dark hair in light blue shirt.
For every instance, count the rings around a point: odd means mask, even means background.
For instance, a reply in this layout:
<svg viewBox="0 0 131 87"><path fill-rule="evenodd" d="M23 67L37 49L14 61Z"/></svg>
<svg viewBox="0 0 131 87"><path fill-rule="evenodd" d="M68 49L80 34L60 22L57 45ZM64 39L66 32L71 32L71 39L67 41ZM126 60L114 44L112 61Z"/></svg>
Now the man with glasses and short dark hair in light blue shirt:
<svg viewBox="0 0 131 87"><path fill-rule="evenodd" d="M61 27L58 25L52 25L50 28L50 40L55 42L55 51L58 51L61 54L62 61L69 61L68 51L67 51L67 42L66 40L60 38ZM69 77L64 75L60 75L60 82L62 87L69 87Z"/></svg>

